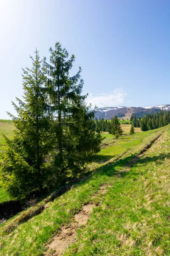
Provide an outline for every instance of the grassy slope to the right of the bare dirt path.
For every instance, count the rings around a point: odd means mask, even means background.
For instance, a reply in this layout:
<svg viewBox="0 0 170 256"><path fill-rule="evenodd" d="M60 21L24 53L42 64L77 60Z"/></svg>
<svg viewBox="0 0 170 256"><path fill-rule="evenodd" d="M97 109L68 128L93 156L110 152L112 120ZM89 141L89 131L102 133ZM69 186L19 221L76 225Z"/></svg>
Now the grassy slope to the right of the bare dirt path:
<svg viewBox="0 0 170 256"><path fill-rule="evenodd" d="M170 255L170 130L129 172L125 160L105 169L113 186L65 255Z"/></svg>

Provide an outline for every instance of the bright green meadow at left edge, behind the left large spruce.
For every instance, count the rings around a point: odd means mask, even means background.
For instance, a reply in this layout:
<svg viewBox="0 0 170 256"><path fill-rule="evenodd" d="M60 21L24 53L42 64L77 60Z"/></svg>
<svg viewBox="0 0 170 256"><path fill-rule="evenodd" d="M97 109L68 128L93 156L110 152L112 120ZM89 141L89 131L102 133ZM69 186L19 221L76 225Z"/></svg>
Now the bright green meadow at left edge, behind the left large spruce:
<svg viewBox="0 0 170 256"><path fill-rule="evenodd" d="M3 134L5 134L9 139L12 138L12 131L14 130L13 122L10 120L0 120L0 151L5 148L5 140ZM9 197L6 192L2 189L0 184L0 203L8 201Z"/></svg>

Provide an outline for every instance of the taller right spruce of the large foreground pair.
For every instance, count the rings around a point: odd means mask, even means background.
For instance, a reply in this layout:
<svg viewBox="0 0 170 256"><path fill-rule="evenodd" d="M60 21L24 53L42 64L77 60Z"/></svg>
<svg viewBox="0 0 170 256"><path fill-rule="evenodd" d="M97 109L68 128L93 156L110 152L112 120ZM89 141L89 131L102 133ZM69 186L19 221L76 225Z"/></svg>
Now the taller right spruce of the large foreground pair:
<svg viewBox="0 0 170 256"><path fill-rule="evenodd" d="M76 176L83 171L85 163L99 150L101 134L91 129L94 111L86 106L87 95L81 96L83 79L81 68L70 77L75 57L68 59L68 51L59 42L49 49L50 64L44 58L47 74L49 99L53 113L53 164L58 182L65 182L68 173Z"/></svg>

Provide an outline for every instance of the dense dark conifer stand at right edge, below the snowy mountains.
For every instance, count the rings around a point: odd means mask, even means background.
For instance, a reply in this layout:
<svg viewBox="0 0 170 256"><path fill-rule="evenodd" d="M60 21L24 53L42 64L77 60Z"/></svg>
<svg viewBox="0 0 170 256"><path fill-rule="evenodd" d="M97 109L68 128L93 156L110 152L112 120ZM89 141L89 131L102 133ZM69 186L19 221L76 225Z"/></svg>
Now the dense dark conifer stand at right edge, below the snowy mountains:
<svg viewBox="0 0 170 256"><path fill-rule="evenodd" d="M143 116L142 119L140 117L137 119L136 115L133 114L130 121L134 127L140 127L142 131L153 130L170 123L170 111L165 112L160 110L156 114L147 114Z"/></svg>

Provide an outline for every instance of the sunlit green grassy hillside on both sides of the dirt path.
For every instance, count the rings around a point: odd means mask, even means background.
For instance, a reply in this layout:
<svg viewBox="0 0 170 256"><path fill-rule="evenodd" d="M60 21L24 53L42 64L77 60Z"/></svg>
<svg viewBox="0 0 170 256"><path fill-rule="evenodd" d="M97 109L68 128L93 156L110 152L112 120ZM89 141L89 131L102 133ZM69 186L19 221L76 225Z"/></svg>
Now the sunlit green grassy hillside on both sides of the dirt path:
<svg viewBox="0 0 170 256"><path fill-rule="evenodd" d="M103 148L98 154L99 161L96 159L95 171L48 203L42 213L20 224L11 234L3 232L11 220L1 226L0 255L42 255L53 234L74 219L74 214L82 204L91 201L102 184L112 187L103 195L102 204L92 212L87 227L78 230L77 243L69 247L65 255L170 255L167 225L170 148L165 147L170 139L168 128L135 134L124 143L119 141L117 145ZM164 130L164 135L130 172L124 172L122 178L116 175L119 170L126 170L128 161ZM113 162L126 151L127 154ZM101 164L102 157L108 162ZM96 205L100 199L101 195L93 199Z"/></svg>

